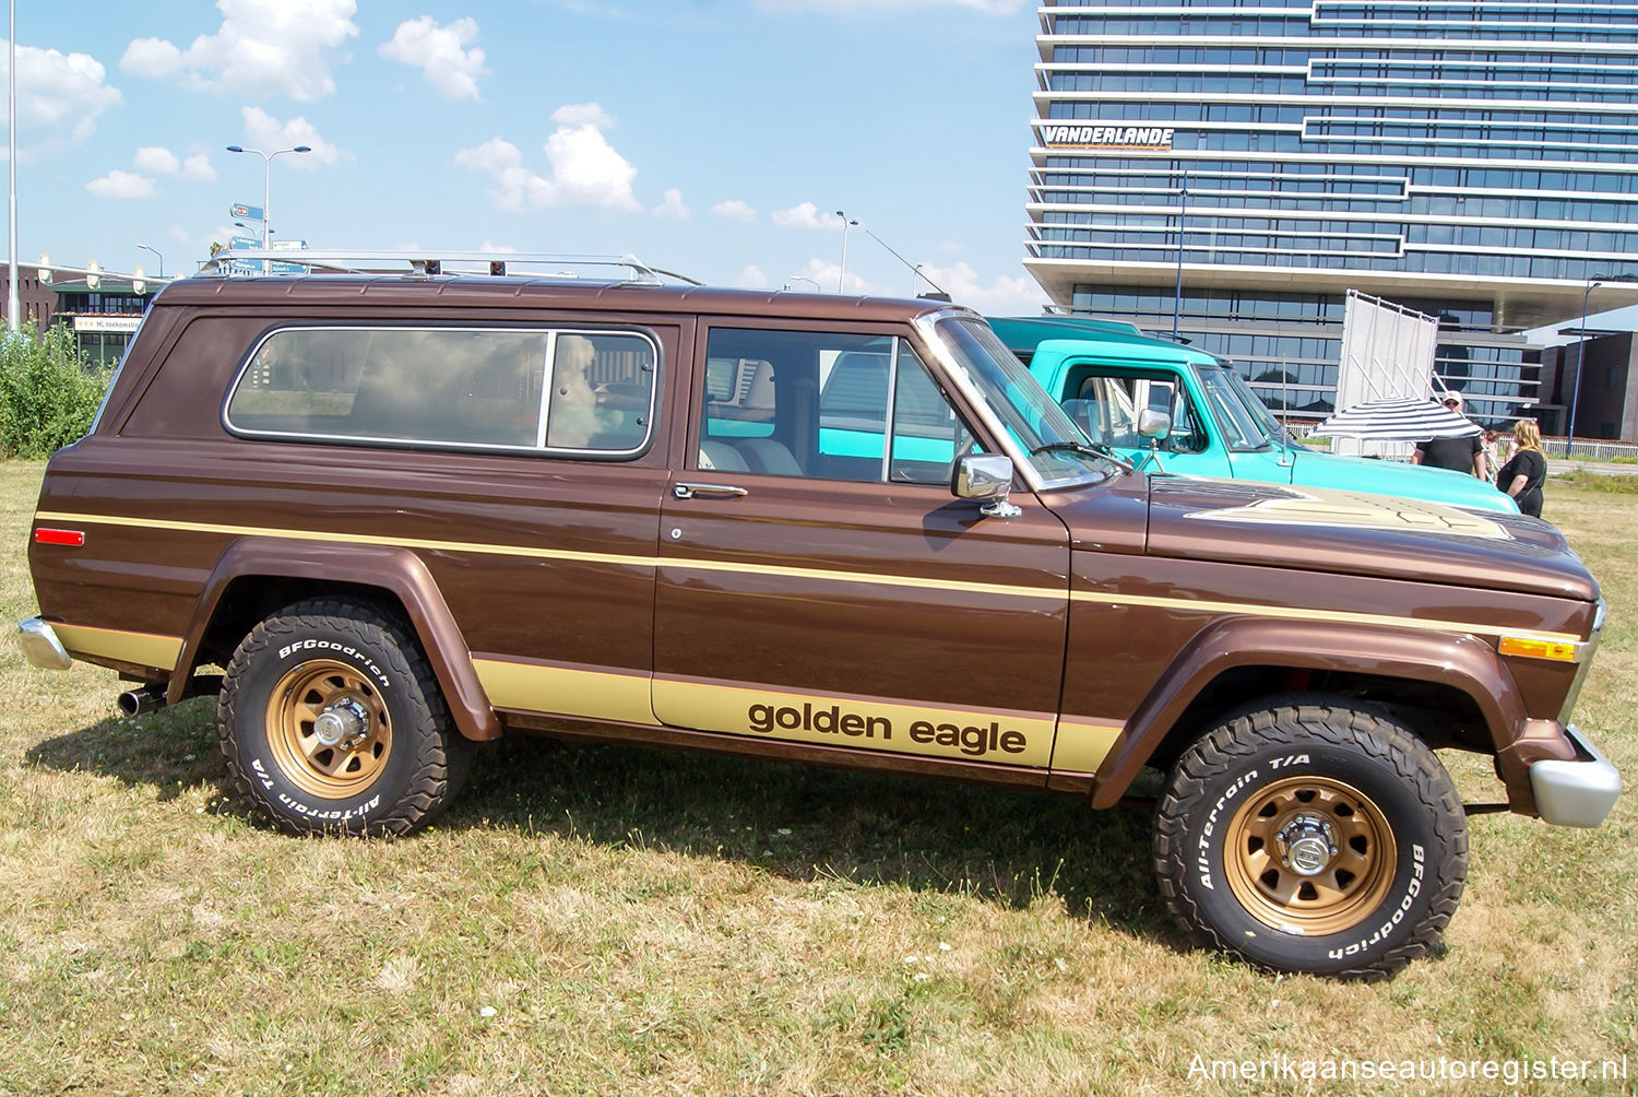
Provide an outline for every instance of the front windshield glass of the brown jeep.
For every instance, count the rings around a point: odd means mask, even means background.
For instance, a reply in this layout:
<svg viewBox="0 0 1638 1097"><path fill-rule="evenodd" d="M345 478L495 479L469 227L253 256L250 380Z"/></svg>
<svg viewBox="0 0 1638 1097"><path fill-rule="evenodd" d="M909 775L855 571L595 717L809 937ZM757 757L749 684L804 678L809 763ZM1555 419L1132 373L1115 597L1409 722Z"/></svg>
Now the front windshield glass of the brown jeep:
<svg viewBox="0 0 1638 1097"><path fill-rule="evenodd" d="M1086 449L1089 439L1040 382L1007 351L989 325L980 320L940 320L939 335L950 351L952 374L963 394L988 408L1007 431L1042 487L1070 487L1101 480L1114 466Z"/></svg>

